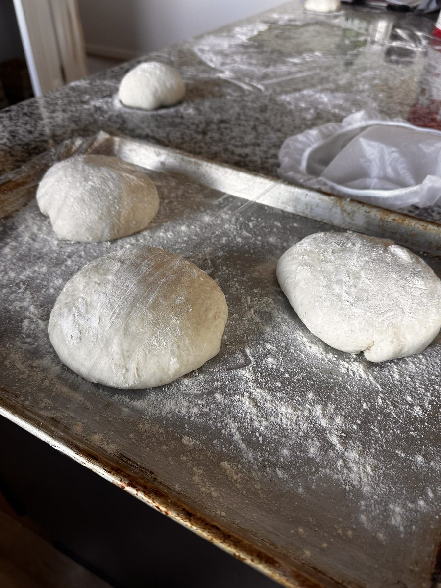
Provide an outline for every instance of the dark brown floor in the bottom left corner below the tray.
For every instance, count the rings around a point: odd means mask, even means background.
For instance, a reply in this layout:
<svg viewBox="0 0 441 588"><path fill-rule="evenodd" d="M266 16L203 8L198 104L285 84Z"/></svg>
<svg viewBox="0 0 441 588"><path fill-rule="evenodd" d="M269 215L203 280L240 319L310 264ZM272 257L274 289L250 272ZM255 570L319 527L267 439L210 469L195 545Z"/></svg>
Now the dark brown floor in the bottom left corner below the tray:
<svg viewBox="0 0 441 588"><path fill-rule="evenodd" d="M26 521L27 523L27 521ZM0 586L111 588L24 526L0 495Z"/></svg>

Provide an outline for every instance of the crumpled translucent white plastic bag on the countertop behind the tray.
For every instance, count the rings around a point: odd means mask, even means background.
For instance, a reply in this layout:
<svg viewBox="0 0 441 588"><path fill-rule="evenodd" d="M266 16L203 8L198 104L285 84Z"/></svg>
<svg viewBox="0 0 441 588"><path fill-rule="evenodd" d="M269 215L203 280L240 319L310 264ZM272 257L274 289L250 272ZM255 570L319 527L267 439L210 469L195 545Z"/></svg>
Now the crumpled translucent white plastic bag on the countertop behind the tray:
<svg viewBox="0 0 441 588"><path fill-rule="evenodd" d="M279 175L383 208L441 203L441 132L361 111L286 139Z"/></svg>

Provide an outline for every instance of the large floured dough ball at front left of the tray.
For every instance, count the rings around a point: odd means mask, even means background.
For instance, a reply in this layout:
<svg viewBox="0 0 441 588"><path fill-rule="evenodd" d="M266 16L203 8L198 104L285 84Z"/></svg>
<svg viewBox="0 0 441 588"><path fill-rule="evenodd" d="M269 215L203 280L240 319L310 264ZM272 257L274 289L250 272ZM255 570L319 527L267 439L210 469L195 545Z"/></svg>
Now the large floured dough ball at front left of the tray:
<svg viewBox="0 0 441 588"><path fill-rule="evenodd" d="M193 263L129 247L93 260L64 286L49 319L59 358L91 382L172 382L219 352L228 307Z"/></svg>

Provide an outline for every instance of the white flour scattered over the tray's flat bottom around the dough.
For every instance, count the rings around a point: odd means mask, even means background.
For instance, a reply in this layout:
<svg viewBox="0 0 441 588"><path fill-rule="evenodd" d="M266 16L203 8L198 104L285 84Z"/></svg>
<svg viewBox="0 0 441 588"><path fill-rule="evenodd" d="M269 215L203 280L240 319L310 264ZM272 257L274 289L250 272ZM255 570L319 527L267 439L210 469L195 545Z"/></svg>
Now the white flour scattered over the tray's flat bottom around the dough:
<svg viewBox="0 0 441 588"><path fill-rule="evenodd" d="M439 342L383 364L329 348L275 278L284 250L328 226L262 205L235 213L238 199L183 175L149 175L158 216L125 239L58 240L35 202L2 222L1 362L11 397L54 435L67 427L230 524L265 529L299 559L306 550L332 562L340 536L362 546L367 533L394 549L397 537L427 534L441 505ZM199 370L124 391L63 366L46 329L76 271L134 244L185 252L222 288L229 320L220 353ZM439 273L439 262L432 265Z"/></svg>

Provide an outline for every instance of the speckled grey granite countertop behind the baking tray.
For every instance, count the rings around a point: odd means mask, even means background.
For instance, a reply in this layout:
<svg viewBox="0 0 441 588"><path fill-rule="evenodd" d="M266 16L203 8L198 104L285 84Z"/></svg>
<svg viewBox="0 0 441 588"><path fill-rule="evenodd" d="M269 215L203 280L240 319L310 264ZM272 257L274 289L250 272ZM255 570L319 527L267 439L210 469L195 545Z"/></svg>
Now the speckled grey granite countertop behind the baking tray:
<svg viewBox="0 0 441 588"><path fill-rule="evenodd" d="M314 15L293 2L148 56L175 66L184 102L143 112L116 98L137 61L0 112L0 173L65 138L102 129L276 175L293 133L376 108L406 118L433 22L346 6Z"/></svg>

